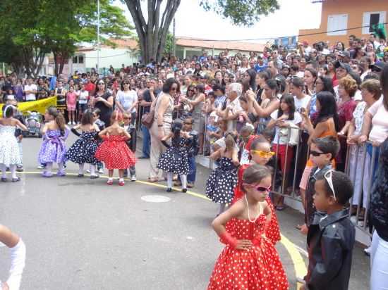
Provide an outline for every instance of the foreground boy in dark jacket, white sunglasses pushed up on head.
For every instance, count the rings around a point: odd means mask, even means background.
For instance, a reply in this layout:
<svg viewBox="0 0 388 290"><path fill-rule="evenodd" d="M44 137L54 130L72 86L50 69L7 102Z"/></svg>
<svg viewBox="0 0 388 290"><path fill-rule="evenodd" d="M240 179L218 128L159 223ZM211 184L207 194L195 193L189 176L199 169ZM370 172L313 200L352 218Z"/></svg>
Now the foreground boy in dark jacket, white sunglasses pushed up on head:
<svg viewBox="0 0 388 290"><path fill-rule="evenodd" d="M346 290L351 274L354 225L344 209L353 184L343 172L327 170L317 176L314 205L317 213L308 229L308 290Z"/></svg>

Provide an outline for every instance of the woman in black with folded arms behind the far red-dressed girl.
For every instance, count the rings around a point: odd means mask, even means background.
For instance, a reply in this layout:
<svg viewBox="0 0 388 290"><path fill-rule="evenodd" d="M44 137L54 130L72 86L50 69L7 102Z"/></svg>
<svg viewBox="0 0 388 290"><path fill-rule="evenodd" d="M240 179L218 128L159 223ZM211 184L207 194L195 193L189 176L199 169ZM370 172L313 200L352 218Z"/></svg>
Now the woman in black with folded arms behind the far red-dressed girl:
<svg viewBox="0 0 388 290"><path fill-rule="evenodd" d="M111 95L103 80L97 81L97 89L92 99L94 108L101 112L99 119L108 127L111 125L111 113L113 113L114 97Z"/></svg>

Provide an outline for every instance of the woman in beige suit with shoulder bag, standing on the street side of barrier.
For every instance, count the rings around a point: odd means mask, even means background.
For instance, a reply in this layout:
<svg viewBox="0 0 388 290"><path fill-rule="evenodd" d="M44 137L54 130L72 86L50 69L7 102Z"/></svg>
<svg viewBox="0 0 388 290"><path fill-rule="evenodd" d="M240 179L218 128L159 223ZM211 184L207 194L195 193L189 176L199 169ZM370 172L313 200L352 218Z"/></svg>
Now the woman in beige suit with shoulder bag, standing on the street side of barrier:
<svg viewBox="0 0 388 290"><path fill-rule="evenodd" d="M179 92L179 82L173 77L164 82L162 93L157 97L154 106L154 122L150 128L151 151L150 151L150 182L157 182L162 177L162 170L157 168L159 156L166 150L162 144L165 134L171 132L172 113L174 111L174 98Z"/></svg>

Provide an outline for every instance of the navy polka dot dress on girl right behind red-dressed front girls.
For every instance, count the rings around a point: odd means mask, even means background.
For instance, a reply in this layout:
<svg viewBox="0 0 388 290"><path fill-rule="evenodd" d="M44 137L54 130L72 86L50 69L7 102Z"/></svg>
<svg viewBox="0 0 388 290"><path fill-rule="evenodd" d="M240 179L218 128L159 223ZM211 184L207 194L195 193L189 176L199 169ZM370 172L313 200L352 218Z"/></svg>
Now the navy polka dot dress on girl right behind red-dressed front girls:
<svg viewBox="0 0 388 290"><path fill-rule="evenodd" d="M231 158L219 159L219 167L213 170L206 182L206 195L215 203L231 203L237 184L237 168Z"/></svg>

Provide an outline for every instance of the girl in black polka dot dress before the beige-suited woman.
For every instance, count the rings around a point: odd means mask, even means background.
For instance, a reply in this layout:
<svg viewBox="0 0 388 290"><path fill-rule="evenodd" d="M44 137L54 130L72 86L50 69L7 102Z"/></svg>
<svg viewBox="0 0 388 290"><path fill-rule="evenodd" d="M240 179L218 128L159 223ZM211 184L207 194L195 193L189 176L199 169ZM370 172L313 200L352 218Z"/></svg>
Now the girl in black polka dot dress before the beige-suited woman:
<svg viewBox="0 0 388 290"><path fill-rule="evenodd" d="M190 135L183 132L182 127L182 121L175 120L171 125L171 132L162 139L162 143L167 147L167 150L160 156L157 168L167 173L167 192L172 191L172 177L174 174L181 177L182 192L187 191L188 152L185 144ZM169 139L171 139L171 146L167 143Z"/></svg>

